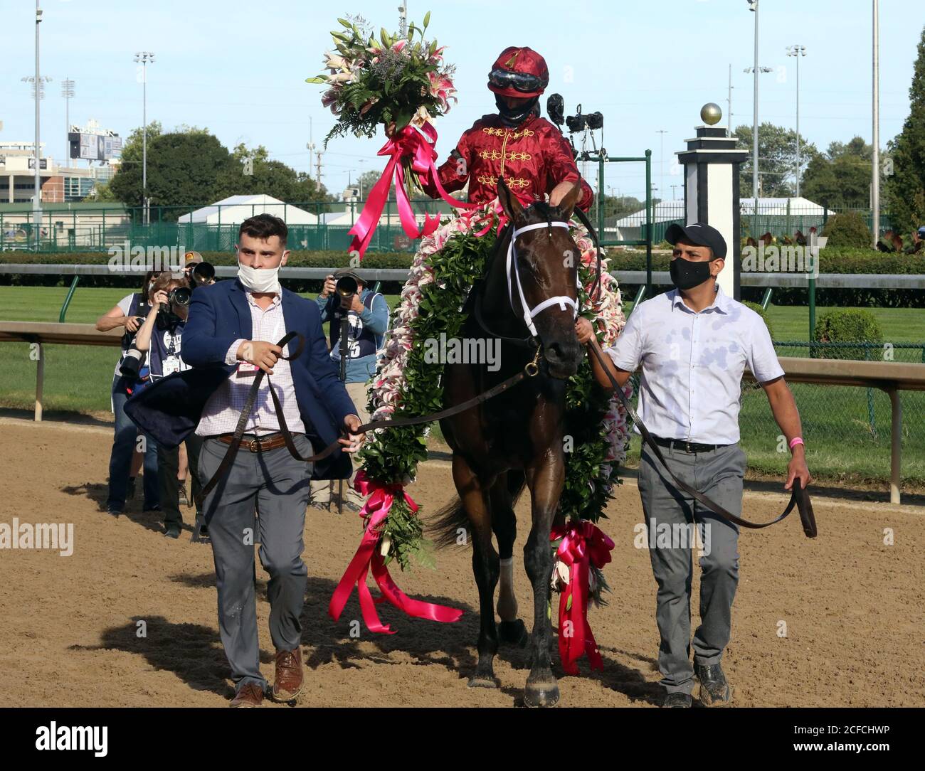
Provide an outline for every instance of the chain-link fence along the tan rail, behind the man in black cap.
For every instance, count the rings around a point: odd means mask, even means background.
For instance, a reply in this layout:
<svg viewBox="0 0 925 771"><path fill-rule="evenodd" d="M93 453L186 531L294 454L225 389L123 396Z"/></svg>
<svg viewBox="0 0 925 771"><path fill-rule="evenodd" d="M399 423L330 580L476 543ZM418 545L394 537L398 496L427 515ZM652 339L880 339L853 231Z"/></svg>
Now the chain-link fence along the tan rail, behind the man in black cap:
<svg viewBox="0 0 925 771"><path fill-rule="evenodd" d="M925 361L925 343L774 343L778 356ZM845 356L848 347L861 355ZM811 349L811 350L810 350ZM817 476L853 481L890 479L892 410L889 396L879 388L853 385L792 383L803 423L809 470ZM902 477L904 483L925 484L925 392L900 391L902 422ZM771 413L760 385L744 381L739 412L741 444L751 471L783 474L790 450ZM630 445L630 463L639 457L639 437Z"/></svg>

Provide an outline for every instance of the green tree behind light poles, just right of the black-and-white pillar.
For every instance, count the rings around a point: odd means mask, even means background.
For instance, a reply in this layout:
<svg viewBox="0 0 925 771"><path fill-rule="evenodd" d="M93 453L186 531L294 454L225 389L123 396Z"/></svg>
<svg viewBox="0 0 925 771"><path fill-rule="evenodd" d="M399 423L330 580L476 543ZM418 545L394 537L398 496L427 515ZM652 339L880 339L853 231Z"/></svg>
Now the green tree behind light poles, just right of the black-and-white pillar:
<svg viewBox="0 0 925 771"><path fill-rule="evenodd" d="M750 126L735 129L736 147L752 150L753 133ZM796 131L792 128L762 123L758 131L759 186L761 198L787 198L796 191ZM819 151L816 145L800 137L800 173ZM802 176L800 177L802 180ZM802 192L802 190L801 190ZM739 193L742 198L752 197L752 156L741 166Z"/></svg>

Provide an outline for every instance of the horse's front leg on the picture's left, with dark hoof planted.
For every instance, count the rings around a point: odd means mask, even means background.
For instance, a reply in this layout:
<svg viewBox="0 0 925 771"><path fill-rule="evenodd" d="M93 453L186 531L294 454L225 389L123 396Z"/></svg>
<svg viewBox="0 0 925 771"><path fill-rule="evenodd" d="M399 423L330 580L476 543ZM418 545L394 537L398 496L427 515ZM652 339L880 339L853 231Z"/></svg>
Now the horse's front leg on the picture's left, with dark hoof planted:
<svg viewBox="0 0 925 771"><path fill-rule="evenodd" d="M453 482L472 525L472 570L478 586L478 664L469 679L470 688L497 688L494 659L498 653L498 629L492 601L498 585L499 559L491 543L491 508L486 486L458 455L453 456Z"/></svg>

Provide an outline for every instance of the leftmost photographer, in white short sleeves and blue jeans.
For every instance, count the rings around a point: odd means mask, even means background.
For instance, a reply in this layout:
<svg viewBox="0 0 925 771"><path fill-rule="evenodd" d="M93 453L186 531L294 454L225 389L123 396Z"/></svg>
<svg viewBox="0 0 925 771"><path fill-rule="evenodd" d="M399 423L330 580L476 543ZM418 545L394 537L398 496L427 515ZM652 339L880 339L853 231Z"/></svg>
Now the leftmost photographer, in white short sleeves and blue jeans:
<svg viewBox="0 0 925 771"><path fill-rule="evenodd" d="M142 325L143 315L147 313L151 288L154 286L155 271L144 275L142 291L126 295L104 315L96 320L96 329L107 332L119 326L125 327L122 338L122 350L116 362L111 385L111 407L116 421L113 447L109 454L109 493L106 498L106 511L118 516L125 508L128 497L133 496L135 478L131 476L132 463L135 458L135 439L138 429L125 414L125 402L129 394L142 388L148 381L143 357L135 360L139 364L137 376L123 376L120 372L129 350L133 348L135 333ZM145 436L144 447L144 501L143 510L159 510L160 497L157 486L157 445L150 436Z"/></svg>

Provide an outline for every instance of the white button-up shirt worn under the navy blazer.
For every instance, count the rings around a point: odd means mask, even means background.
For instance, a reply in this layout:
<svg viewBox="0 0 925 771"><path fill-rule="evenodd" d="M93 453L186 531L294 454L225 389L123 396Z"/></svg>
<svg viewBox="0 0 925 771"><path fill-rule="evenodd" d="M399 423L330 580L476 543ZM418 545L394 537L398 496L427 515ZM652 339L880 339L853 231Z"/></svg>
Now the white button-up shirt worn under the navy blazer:
<svg viewBox="0 0 925 771"><path fill-rule="evenodd" d="M273 297L273 302L266 310L257 305L250 291L245 291L245 296L251 309L251 339L277 343L286 334L282 295L277 292ZM244 341L244 338L241 338L231 344L225 354L226 364L240 363L237 353L240 344ZM283 356L290 355L288 343L283 346L282 352ZM246 366L248 365L245 364ZM215 434L231 434L234 432L235 427L238 425L241 410L244 409L244 403L247 401L247 393L251 389L253 378L256 377L257 372L259 370L248 373L241 373L239 370L231 373L228 380L216 388L215 393L205 402L203 415L200 418L199 425L196 427L196 434L213 436ZM273 365L273 374L270 376L270 380L273 382L273 388L276 390L279 404L283 408L283 417L286 419L286 425L289 426L290 432L304 434L305 424L302 422L299 404L296 401L290 362L279 359ZM251 417L244 426L244 433L261 435L272 434L277 431L279 431L279 421L273 407L273 399L270 397L267 376L264 375L264 380L257 391Z"/></svg>

